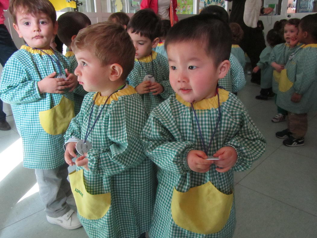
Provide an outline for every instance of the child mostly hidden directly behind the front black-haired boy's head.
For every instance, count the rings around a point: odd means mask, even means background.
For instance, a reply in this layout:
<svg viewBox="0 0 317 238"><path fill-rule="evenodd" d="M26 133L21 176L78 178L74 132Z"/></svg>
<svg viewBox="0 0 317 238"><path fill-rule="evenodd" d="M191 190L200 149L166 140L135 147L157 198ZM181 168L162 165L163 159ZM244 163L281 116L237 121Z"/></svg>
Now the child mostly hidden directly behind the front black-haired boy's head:
<svg viewBox="0 0 317 238"><path fill-rule="evenodd" d="M208 6L204 8L200 14L211 14L219 17L223 22L229 25L229 15L223 7ZM230 54L230 69L226 76L219 79L219 86L223 87L229 92L236 93L245 85L244 71L236 56Z"/></svg>

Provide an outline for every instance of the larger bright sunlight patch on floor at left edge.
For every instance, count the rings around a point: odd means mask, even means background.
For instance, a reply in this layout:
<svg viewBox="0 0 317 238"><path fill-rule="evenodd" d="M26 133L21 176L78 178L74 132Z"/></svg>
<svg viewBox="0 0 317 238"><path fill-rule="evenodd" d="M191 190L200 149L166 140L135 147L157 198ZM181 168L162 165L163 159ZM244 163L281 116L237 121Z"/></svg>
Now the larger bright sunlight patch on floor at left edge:
<svg viewBox="0 0 317 238"><path fill-rule="evenodd" d="M22 138L2 151L0 158L2 158L3 163L0 169L0 181L2 181L23 160Z"/></svg>

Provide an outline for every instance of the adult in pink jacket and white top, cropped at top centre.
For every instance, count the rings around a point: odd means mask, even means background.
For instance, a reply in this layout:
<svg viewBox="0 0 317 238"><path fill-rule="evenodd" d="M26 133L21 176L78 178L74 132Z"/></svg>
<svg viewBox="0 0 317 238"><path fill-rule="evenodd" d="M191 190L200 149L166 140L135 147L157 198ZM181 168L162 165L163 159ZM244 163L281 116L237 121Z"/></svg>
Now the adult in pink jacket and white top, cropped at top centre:
<svg viewBox="0 0 317 238"><path fill-rule="evenodd" d="M178 22L176 15L177 0L173 2L174 23ZM171 0L142 0L141 9L152 8L156 14L162 17L162 19L170 20L170 3Z"/></svg>

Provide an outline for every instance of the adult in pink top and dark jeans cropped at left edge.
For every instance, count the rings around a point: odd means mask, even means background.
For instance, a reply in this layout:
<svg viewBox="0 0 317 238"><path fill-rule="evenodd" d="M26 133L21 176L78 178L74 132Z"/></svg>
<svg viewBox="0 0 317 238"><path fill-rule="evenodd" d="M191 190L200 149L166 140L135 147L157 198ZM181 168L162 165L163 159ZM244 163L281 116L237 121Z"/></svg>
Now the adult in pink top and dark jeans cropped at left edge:
<svg viewBox="0 0 317 238"><path fill-rule="evenodd" d="M0 0L0 63L2 67L4 67L10 56L17 50L8 29L4 25L3 10L7 10L9 4L9 0ZM11 129L9 123L6 121L6 116L3 112L3 102L0 99L0 130Z"/></svg>

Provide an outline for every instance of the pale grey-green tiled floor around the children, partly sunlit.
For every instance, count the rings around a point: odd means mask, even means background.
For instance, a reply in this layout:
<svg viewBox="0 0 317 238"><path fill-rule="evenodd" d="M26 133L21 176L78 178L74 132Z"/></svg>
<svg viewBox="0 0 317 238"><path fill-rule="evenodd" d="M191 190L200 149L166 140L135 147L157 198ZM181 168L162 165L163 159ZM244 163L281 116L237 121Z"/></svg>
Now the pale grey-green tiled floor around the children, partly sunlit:
<svg viewBox="0 0 317 238"><path fill-rule="evenodd" d="M273 100L258 101L260 87L249 83L238 93L267 139L260 160L235 174L235 238L317 237L317 114L309 114L305 146L288 148L275 132ZM49 224L37 193L32 169L22 167L22 143L12 116L12 129L0 131L0 237L87 237L83 228L65 230ZM69 170L74 170L70 168Z"/></svg>

